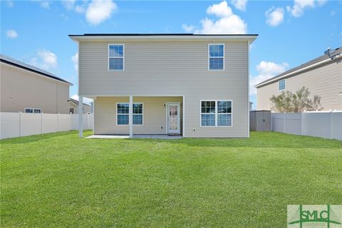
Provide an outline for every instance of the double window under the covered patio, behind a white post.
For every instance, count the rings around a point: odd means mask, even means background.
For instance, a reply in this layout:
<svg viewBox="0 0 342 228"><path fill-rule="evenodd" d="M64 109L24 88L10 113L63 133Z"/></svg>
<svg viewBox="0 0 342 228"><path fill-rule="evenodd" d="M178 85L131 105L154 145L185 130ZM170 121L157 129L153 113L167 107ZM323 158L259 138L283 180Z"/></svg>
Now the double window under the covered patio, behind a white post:
<svg viewBox="0 0 342 228"><path fill-rule="evenodd" d="M130 104L118 103L116 107L117 125L130 124ZM133 103L133 125L142 125L142 103Z"/></svg>

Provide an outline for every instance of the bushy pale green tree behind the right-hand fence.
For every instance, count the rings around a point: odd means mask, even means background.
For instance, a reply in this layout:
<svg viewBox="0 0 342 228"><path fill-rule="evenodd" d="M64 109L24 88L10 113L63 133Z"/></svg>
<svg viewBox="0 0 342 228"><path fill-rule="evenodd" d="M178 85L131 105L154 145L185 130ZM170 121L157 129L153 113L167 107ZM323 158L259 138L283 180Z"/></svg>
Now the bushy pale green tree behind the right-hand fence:
<svg viewBox="0 0 342 228"><path fill-rule="evenodd" d="M272 95L270 98L274 112L302 113L304 111L321 110L321 97L314 95L311 99L308 88L303 86L296 93L281 92L281 95Z"/></svg>

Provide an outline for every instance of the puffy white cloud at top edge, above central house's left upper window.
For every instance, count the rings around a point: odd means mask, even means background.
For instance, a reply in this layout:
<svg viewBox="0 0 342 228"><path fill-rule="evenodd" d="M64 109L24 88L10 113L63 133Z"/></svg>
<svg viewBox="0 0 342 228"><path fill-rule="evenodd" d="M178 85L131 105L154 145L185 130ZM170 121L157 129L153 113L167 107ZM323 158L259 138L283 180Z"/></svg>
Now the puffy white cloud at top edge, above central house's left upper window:
<svg viewBox="0 0 342 228"><path fill-rule="evenodd" d="M93 0L86 11L86 19L90 24L98 25L110 19L116 9L118 6L112 0Z"/></svg>

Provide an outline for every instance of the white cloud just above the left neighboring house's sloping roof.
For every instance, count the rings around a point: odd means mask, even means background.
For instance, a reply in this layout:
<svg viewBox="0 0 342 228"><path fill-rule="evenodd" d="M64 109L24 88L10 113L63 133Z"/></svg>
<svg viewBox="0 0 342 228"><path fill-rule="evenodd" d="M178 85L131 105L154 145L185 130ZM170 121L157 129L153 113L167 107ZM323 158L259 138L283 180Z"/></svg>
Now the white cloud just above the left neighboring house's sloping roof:
<svg viewBox="0 0 342 228"><path fill-rule="evenodd" d="M52 68L57 68L57 56L51 51L38 50L37 56L31 58L30 63L38 68L50 70Z"/></svg>

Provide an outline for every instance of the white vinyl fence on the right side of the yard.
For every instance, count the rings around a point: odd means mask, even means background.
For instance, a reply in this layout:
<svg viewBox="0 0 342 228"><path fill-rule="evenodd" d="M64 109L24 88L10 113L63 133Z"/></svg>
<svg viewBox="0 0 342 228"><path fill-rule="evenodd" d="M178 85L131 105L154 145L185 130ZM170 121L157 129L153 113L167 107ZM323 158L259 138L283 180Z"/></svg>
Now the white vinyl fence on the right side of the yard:
<svg viewBox="0 0 342 228"><path fill-rule="evenodd" d="M272 131L342 140L342 111L271 113Z"/></svg>

